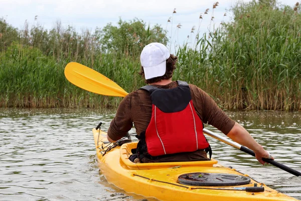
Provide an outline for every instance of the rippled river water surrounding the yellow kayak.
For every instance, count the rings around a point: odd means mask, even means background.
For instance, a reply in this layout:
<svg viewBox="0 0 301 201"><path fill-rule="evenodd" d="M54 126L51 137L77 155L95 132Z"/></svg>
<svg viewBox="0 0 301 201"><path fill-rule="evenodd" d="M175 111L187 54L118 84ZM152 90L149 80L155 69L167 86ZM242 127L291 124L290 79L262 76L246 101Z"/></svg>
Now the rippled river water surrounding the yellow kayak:
<svg viewBox="0 0 301 201"><path fill-rule="evenodd" d="M301 113L228 115L276 161L301 171ZM88 109L0 109L0 200L155 200L126 193L99 173L91 130L100 121L107 130L113 117L114 111ZM252 156L207 138L220 164L301 199L301 177L262 166Z"/></svg>

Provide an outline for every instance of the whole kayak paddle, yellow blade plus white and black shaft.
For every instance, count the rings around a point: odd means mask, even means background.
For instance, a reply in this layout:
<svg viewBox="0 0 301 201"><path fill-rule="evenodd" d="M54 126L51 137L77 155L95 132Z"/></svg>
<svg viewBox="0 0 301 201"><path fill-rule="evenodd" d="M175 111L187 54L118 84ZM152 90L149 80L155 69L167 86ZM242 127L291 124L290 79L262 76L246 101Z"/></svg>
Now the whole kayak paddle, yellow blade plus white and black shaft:
<svg viewBox="0 0 301 201"><path fill-rule="evenodd" d="M76 62L71 62L67 64L67 66L65 67L65 76L74 85L82 89L91 91L93 93L98 93L102 95L111 95L111 96L121 96L121 97L124 97L125 95L128 94L118 84L116 84L106 76L100 74L99 72L91 68L88 68L87 66L84 66ZM255 156L255 153L247 147L244 147L236 142L232 142L231 140L222 137L218 134L215 134L207 129L203 129L203 132L247 154ZM287 171L295 176L301 176L301 172L298 172L281 163L278 163L274 160L267 159L267 158L262 158L262 159L263 161L272 164L284 171Z"/></svg>

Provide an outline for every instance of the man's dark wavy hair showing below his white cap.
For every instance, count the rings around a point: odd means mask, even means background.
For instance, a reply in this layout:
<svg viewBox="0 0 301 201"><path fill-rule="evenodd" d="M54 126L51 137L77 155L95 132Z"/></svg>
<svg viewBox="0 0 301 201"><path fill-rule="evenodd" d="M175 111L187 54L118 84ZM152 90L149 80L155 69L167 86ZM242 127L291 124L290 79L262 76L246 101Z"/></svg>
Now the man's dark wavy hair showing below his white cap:
<svg viewBox="0 0 301 201"><path fill-rule="evenodd" d="M165 74L160 76L160 77L145 79L145 83L150 84L150 83L158 82L158 81L163 80L163 79L171 78L173 76L174 70L177 68L176 67L177 60L178 60L178 57L171 54L171 56L166 60ZM144 78L143 66L141 66L141 70L138 73Z"/></svg>

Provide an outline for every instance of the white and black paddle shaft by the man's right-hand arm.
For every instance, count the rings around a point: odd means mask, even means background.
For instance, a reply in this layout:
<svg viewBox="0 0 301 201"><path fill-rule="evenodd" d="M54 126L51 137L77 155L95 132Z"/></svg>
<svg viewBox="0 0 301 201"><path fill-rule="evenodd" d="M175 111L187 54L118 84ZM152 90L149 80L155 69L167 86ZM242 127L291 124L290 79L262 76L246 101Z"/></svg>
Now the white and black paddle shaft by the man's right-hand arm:
<svg viewBox="0 0 301 201"><path fill-rule="evenodd" d="M230 146L232 146L232 147L235 147L235 148L237 148L237 149L239 149L239 150L241 150L241 151L243 151L243 152L245 152L245 153L247 153L247 154L250 154L250 155L252 155L252 156L255 156L255 153L254 153L251 149L249 149L249 148L247 148L247 147L245 147L245 146L242 146L242 145L240 145L240 144L238 144L238 143L236 143L236 142L232 142L231 140L228 140L227 138L222 137L222 136L220 136L220 135L218 135L218 134L215 134L215 133L213 133L212 131L209 131L209 130L207 130L207 129L203 129L203 132L204 132L205 134L207 134L207 135L209 135L209 136L211 136L211 137L213 137L213 138L215 138L215 139L217 139L217 140L219 140L219 141L222 141L222 142L224 142L224 143L226 143L226 144L228 144L228 145L230 145ZM267 162L267 163L269 163L269 164L272 164L272 165L274 165L275 167L278 167L278 168L280 168L280 169L282 169L282 170L284 170L284 171L286 171L286 172L289 172L289 173L291 173L291 174L293 174L293 175L295 175L295 176L301 176L301 172L296 171L296 170L294 170L294 169L292 169L292 168L290 168L290 167L287 167L286 165L283 165L283 164L281 164L281 163L278 163L278 162L276 162L275 160L271 160L271 159L267 159L267 158L262 158L262 160L263 160L264 162Z"/></svg>

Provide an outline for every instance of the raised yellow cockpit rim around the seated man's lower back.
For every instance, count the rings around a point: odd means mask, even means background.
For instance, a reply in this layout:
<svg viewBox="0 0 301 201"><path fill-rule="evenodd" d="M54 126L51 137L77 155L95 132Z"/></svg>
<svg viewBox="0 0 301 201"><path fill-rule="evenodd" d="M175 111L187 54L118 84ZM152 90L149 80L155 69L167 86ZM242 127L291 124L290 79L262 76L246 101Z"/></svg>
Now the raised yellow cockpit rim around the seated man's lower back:
<svg viewBox="0 0 301 201"><path fill-rule="evenodd" d="M186 161L186 162L161 162L161 163L134 163L129 160L132 154L132 149L136 149L138 142L125 143L120 147L120 159L130 169L157 169L163 167L176 167L176 166L200 166L200 167L213 167L217 164L217 160L211 159L208 161Z"/></svg>

